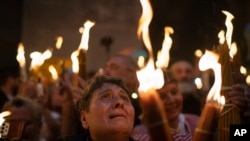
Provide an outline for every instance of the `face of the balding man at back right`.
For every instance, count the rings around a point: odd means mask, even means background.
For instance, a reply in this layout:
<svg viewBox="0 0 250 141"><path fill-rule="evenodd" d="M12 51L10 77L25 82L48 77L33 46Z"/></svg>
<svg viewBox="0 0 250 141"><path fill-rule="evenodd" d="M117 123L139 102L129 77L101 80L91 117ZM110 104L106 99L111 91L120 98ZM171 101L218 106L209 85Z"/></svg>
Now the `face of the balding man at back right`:
<svg viewBox="0 0 250 141"><path fill-rule="evenodd" d="M185 61L176 62L171 66L173 77L179 82L193 81L193 71L192 65Z"/></svg>

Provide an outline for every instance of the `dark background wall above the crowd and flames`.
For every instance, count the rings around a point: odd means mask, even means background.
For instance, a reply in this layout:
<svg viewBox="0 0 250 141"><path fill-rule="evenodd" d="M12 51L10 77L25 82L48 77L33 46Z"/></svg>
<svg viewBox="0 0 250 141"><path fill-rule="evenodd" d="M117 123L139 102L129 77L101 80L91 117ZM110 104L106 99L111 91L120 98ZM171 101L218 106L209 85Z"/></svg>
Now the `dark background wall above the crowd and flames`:
<svg viewBox="0 0 250 141"><path fill-rule="evenodd" d="M74 1L74 4L70 2L66 3L65 1L58 4L58 2L58 0L46 0L39 1L39 4L37 4L36 1L30 0L0 1L0 65L12 64L11 62L15 60L16 57L17 45L21 41L27 45L29 52L39 49L42 51L44 49L41 49L42 47L40 45L43 45L44 48L45 46L50 46L53 44L54 37L57 34L64 34L67 39L65 44L67 44L67 46L73 46L73 48L66 49L66 52L75 50L81 35L77 33L77 31L74 31L75 34L72 33L72 30L65 33L62 31L69 30L70 28L79 28L83 23L82 21L87 17L92 19L96 18L103 24L103 26L93 29L94 37L91 37L90 45L100 46L101 38L105 35L112 34L112 32L106 33L106 29L109 29L109 31L113 30L113 32L118 32L112 35L114 40L113 46L124 45L121 48L111 48L111 54L128 46L135 48L141 47L140 41L138 41L136 35L134 35L134 33L136 33L137 21L141 14L139 1L107 0L104 2L100 0L78 0L78 3ZM105 13L105 10L107 11L109 7L104 9L102 5L110 6L110 9L114 10ZM233 20L234 31L232 41L237 42L241 52L242 64L249 67L250 60L247 60L247 55L249 55L247 52L249 49L243 36L244 28L246 24L250 22L248 10L250 6L247 0L152 0L152 7L154 17L150 25L150 36L155 54L161 48L164 27L172 26L174 28L174 34L171 36L173 39L171 62L178 59L186 59L193 62L193 53L196 49L211 49L218 43L218 32L221 29L226 30L224 25L225 15L221 13L221 10L227 10L235 16ZM34 13L40 14L37 17L32 16L32 10L34 9L36 9ZM72 16L75 14L74 10L79 10L81 13L77 16ZM64 13L61 16L54 14L58 11L71 11L71 14L65 15ZM61 18L61 21L58 20L59 18ZM64 19L62 20L62 18ZM53 30L46 29L45 27L50 27ZM60 28L60 30L57 30L57 28ZM45 37L41 38L41 36L38 36L45 34L43 32L46 30L48 30L46 37L49 37L51 39L50 41L47 41ZM127 32L133 36L130 36ZM127 35L121 36L119 33ZM99 37L98 35L102 36ZM97 36L98 39L95 40ZM124 40L124 37L126 40ZM47 44L44 42L47 42ZM99 64L98 61L96 61L95 52L99 50L100 52L104 52L104 49L99 48L98 50L90 50L89 64L91 64L91 69L96 69L104 63L101 58ZM60 53L58 54L60 56ZM66 53L61 54L68 56ZM92 58L94 57L95 60L91 59L91 56Z"/></svg>

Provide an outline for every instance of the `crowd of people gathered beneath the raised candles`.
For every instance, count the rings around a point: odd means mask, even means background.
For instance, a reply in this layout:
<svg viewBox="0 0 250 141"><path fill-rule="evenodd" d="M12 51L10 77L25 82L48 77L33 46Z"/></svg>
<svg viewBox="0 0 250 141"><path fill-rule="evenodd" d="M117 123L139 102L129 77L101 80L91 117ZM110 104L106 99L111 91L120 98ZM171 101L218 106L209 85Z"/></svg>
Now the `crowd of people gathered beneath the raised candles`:
<svg viewBox="0 0 250 141"><path fill-rule="evenodd" d="M44 85L42 93L38 93L36 79L20 82L18 67L1 68L0 112L11 112L5 122L10 123L12 130L9 132L13 132L6 138L25 141L153 140L144 124L140 97L132 97L138 94L138 69L135 58L117 54L88 80L78 76L78 85L73 85L72 77L65 77L57 83ZM157 92L172 138L191 141L206 94L197 91L194 67L185 60L171 64L164 75L165 84ZM249 89L248 85L240 83L232 85L228 92L228 101L240 109L243 123L249 123Z"/></svg>

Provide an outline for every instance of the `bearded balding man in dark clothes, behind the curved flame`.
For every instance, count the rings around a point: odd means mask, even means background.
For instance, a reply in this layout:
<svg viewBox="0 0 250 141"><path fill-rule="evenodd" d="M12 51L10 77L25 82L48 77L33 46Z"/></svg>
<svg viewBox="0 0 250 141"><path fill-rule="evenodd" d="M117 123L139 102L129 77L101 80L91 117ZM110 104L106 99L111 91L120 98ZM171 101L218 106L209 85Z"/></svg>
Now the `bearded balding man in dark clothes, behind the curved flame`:
<svg viewBox="0 0 250 141"><path fill-rule="evenodd" d="M183 94L183 112L200 115L206 94L196 88L192 64L186 60L177 60L171 64L169 70L179 82L179 89Z"/></svg>

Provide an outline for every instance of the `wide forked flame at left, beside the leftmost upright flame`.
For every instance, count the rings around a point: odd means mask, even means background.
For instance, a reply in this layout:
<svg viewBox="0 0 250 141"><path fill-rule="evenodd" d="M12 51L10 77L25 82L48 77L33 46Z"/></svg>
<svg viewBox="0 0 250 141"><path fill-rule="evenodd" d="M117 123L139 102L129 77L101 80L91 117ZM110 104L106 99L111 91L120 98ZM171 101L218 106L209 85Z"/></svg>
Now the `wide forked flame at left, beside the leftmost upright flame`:
<svg viewBox="0 0 250 141"><path fill-rule="evenodd" d="M39 68L45 60L49 59L52 56L52 50L47 49L43 53L40 53L38 51L34 51L30 53L31 65L30 69L37 69Z"/></svg>

